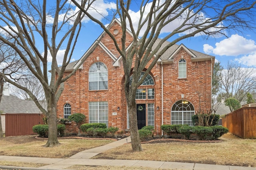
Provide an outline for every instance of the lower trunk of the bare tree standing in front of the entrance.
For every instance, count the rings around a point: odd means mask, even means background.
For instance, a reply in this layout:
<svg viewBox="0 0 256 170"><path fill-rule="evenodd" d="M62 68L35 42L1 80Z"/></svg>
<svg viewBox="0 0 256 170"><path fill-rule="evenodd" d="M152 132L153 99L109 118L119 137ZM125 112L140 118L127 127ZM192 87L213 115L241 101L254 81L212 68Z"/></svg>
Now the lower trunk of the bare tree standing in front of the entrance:
<svg viewBox="0 0 256 170"><path fill-rule="evenodd" d="M138 132L138 123L137 123L137 108L136 101L130 99L128 102L128 113L129 113L129 123L130 123L130 135L132 141L132 150L133 151L142 151L140 136Z"/></svg>

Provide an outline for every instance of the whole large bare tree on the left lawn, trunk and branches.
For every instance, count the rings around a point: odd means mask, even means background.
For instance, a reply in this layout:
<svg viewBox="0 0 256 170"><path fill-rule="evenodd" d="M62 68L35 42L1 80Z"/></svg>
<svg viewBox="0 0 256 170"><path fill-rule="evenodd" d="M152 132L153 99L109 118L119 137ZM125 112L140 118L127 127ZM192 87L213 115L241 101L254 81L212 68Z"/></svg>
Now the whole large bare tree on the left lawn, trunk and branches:
<svg viewBox="0 0 256 170"><path fill-rule="evenodd" d="M94 2L84 1L81 6L86 11ZM56 104L64 89L64 82L76 72L64 76L70 62L78 35L82 27L84 13L74 10L69 0L52 1L0 1L0 40L14 49L20 59L42 84L47 109L40 104L36 95L26 86L16 83L12 74L5 81L24 90L40 111L48 118L49 135L45 147L59 145L57 139ZM15 43L13 43L15 42ZM57 53L65 48L62 67L58 67ZM25 52L25 53L24 53ZM48 57L51 67L48 68ZM48 70L51 70L48 77Z"/></svg>

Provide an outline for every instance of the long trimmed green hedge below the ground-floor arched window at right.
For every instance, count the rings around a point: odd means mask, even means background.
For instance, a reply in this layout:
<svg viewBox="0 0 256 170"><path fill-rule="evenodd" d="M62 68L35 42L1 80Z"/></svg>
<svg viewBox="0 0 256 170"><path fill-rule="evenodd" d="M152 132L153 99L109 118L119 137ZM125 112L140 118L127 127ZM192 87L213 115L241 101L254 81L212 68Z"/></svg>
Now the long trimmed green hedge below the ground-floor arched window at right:
<svg viewBox="0 0 256 170"><path fill-rule="evenodd" d="M161 129L170 137L174 137L174 134L182 134L186 139L190 139L191 134L196 134L199 140L218 140L219 137L228 133L228 129L222 126L162 125Z"/></svg>

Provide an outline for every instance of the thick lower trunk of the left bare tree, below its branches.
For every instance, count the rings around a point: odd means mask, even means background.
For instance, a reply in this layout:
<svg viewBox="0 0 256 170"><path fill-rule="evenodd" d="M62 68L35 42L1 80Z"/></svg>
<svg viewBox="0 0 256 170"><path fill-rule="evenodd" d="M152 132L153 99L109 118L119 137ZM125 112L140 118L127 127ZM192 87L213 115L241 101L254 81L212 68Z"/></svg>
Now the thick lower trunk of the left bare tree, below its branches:
<svg viewBox="0 0 256 170"><path fill-rule="evenodd" d="M56 102L55 95L51 95L50 100L48 100L48 141L44 145L44 147L53 147L56 145L60 145L58 141L58 130L57 130L57 112L56 112Z"/></svg>

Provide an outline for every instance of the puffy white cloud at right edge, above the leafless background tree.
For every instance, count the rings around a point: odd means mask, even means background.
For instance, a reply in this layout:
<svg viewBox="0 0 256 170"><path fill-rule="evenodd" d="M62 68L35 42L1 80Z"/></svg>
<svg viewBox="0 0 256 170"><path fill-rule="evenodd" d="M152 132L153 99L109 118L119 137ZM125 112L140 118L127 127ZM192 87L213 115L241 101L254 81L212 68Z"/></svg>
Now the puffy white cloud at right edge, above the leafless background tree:
<svg viewBox="0 0 256 170"><path fill-rule="evenodd" d="M205 44L204 52L207 54L238 56L247 55L256 51L256 43L252 39L246 39L240 35L234 34L231 37L215 44L215 48Z"/></svg>

